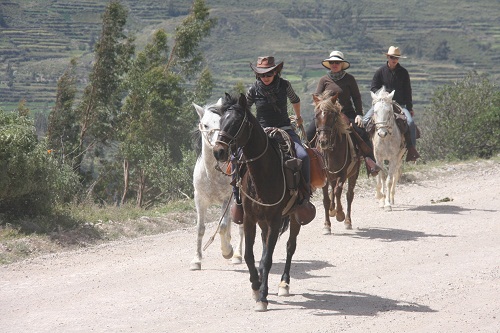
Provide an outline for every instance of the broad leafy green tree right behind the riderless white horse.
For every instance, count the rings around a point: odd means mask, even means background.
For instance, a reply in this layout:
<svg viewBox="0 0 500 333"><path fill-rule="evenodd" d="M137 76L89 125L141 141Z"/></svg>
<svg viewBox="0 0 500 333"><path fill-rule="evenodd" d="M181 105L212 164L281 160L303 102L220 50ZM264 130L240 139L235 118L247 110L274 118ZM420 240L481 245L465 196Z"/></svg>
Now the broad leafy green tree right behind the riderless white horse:
<svg viewBox="0 0 500 333"><path fill-rule="evenodd" d="M203 56L199 44L214 24L204 1L196 0L188 17L177 27L171 49L166 32L159 30L134 60L120 115L122 203L130 196L131 187L136 204L147 207L172 198L172 193L185 186L183 174L190 171L177 166L189 159L189 133L196 119L191 103L201 103L211 95L210 71L200 71Z"/></svg>

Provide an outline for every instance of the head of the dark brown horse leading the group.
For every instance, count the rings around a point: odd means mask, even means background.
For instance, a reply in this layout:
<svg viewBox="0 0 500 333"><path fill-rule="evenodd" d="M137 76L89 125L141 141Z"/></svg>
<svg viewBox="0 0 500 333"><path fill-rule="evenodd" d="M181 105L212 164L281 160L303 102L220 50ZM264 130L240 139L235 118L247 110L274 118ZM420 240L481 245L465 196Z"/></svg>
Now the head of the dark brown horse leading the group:
<svg viewBox="0 0 500 333"><path fill-rule="evenodd" d="M251 134L245 95L231 96L226 93L221 106L220 132L214 146L214 156L226 162L232 152L243 147Z"/></svg>

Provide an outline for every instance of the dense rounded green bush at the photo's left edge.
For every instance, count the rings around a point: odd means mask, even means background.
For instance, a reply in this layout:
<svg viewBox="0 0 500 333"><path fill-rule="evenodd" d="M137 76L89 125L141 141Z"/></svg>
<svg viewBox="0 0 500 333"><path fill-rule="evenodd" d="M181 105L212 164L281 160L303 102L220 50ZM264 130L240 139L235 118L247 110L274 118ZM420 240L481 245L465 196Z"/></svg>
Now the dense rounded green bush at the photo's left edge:
<svg viewBox="0 0 500 333"><path fill-rule="evenodd" d="M73 198L75 189L73 172L38 142L32 120L0 110L0 211L46 214Z"/></svg>

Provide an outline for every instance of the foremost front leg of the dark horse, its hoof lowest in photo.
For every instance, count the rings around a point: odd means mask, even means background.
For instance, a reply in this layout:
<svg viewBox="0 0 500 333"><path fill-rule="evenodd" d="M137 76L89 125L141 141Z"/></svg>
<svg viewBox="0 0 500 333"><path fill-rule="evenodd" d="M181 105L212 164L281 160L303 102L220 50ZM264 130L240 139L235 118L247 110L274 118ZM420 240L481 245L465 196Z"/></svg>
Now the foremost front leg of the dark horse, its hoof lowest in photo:
<svg viewBox="0 0 500 333"><path fill-rule="evenodd" d="M281 219L281 217L278 217ZM270 224L272 222L269 222ZM279 224L272 224L269 228L267 237L263 240L264 249L262 251L262 258L260 259L260 280L261 285L259 289L259 298L257 299L257 304L255 305L255 311L267 311L267 306L269 304L267 300L267 295L269 293L269 273L271 272L271 266L273 265L273 253L276 243L278 242L279 236Z"/></svg>

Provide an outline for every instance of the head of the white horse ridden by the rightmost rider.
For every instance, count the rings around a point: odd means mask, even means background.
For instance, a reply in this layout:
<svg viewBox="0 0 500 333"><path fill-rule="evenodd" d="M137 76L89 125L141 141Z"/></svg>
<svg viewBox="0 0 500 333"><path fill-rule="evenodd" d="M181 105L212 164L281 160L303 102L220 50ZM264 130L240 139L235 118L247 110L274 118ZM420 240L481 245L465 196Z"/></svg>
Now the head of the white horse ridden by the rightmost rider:
<svg viewBox="0 0 500 333"><path fill-rule="evenodd" d="M394 112L392 111L393 90L388 93L383 86L376 93L371 92L373 105L373 121L377 135L381 138L392 133L394 124Z"/></svg>

